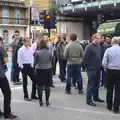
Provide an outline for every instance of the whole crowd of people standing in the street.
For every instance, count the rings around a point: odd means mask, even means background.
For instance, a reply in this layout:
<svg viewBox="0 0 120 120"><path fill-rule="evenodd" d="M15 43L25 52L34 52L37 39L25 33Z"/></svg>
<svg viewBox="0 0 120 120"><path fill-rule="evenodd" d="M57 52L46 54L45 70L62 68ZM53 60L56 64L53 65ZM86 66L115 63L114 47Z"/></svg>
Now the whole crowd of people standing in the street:
<svg viewBox="0 0 120 120"><path fill-rule="evenodd" d="M120 38L109 35L102 36L96 33L92 36L86 49L81 44L78 36L72 33L69 39L65 35L58 36L56 44L50 42L47 35L41 35L30 46L30 38L13 36L10 45L12 51L11 81L14 85L23 84L24 100L38 99L43 106L43 91L45 91L45 104L50 105L50 87L55 87L53 75L56 74L56 65L59 63L59 79L66 83L65 92L71 94L71 87L78 89L78 94L83 93L82 70L86 70L88 85L86 103L96 106L95 102L104 102L99 97L99 87L107 88L107 108L119 112L120 105ZM4 49L3 39L0 37L0 88L4 95L4 114L0 116L13 119L16 115L11 114L11 90L5 75L8 55ZM22 73L22 82L19 73ZM31 97L27 89L27 76L32 81ZM100 84L101 83L101 84ZM115 89L114 89L115 88ZM114 102L113 102L113 91Z"/></svg>

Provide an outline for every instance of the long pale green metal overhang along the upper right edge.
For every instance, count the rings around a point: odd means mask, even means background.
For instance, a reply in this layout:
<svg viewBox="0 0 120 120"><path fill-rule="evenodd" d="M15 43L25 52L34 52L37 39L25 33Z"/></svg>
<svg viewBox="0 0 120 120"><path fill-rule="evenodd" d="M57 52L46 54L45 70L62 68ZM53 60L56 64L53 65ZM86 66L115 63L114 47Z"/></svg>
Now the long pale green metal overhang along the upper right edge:
<svg viewBox="0 0 120 120"><path fill-rule="evenodd" d="M86 0L83 0L84 2L82 3L81 0L77 1L79 2L75 4L70 3L61 5L59 12L64 16L97 16L98 14L110 14L116 11L118 11L119 14L120 11L120 0L94 0L94 2L91 2L91 0L85 2Z"/></svg>

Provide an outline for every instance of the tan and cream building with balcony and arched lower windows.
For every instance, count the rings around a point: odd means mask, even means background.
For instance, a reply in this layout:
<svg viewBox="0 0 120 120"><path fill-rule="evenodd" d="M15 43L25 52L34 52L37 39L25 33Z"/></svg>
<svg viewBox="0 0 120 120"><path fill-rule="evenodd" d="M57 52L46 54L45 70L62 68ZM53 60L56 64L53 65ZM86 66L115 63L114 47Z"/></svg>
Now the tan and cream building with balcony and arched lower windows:
<svg viewBox="0 0 120 120"><path fill-rule="evenodd" d="M29 36L28 8L24 2L0 0L0 36L9 45L12 36Z"/></svg>

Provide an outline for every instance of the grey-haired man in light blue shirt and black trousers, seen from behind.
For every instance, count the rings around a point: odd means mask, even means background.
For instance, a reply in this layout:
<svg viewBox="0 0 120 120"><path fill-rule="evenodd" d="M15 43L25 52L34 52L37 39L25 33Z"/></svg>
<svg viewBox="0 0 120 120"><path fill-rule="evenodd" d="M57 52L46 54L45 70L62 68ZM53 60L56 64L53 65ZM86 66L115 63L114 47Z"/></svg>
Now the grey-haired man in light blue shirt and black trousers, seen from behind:
<svg viewBox="0 0 120 120"><path fill-rule="evenodd" d="M107 108L112 110L114 113L119 112L120 106L120 46L119 39L114 37L112 39L112 47L105 51L102 65L104 70L108 74L108 85L107 85ZM113 90L115 94L113 95ZM114 103L113 103L114 96Z"/></svg>

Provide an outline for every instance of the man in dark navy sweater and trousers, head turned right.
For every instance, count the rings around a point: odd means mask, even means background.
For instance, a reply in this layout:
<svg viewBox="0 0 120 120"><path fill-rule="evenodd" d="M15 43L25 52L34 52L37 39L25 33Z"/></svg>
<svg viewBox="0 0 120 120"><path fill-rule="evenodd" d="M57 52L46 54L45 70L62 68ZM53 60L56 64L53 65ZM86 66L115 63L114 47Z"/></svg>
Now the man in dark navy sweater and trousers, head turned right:
<svg viewBox="0 0 120 120"><path fill-rule="evenodd" d="M92 39L93 41L87 46L85 50L83 62L87 69L88 76L86 103L90 106L96 106L93 100L96 102L104 102L99 98L101 72L101 34L94 34Z"/></svg>

